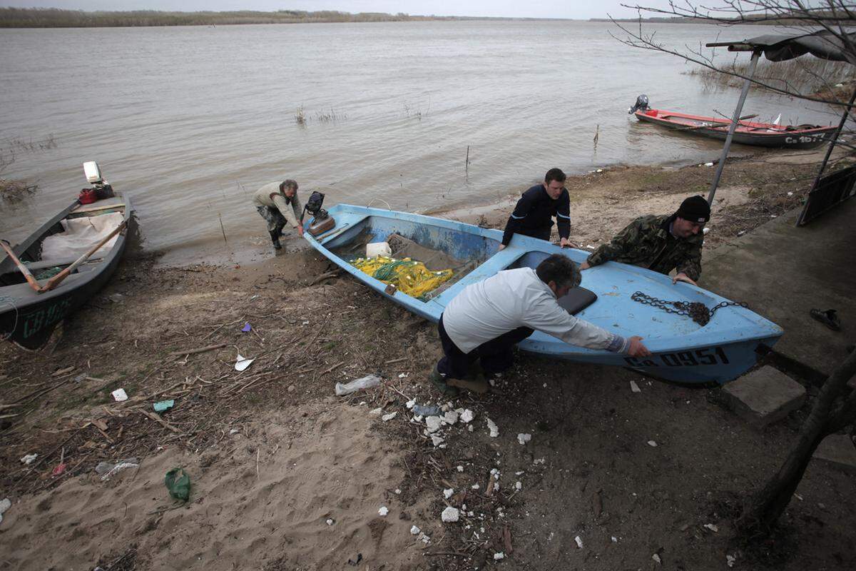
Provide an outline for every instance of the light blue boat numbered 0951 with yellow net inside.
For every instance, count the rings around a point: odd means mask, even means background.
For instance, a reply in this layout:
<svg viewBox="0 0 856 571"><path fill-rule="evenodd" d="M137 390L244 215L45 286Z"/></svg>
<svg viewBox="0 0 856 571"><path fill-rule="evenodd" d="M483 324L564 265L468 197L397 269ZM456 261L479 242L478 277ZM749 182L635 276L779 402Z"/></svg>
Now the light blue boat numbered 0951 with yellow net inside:
<svg viewBox="0 0 856 571"><path fill-rule="evenodd" d="M514 235L500 251L499 230L407 212L344 204L329 212L336 220L332 229L318 236L304 235L312 247L377 293L434 322L461 289L497 271L533 268L553 253L562 253L577 264L588 256L583 250L562 249L524 235ZM386 241L394 234L467 265L436 292L417 299L358 270L350 263L355 256L343 253L365 255L367 243ZM742 306L722 307L702 326L687 316L631 300L639 291L660 300L699 301L709 308L728 301L688 283L673 284L670 277L634 265L598 265L582 272L580 286L597 294L597 300L575 313L578 318L621 336L643 336L651 356L634 359L575 347L540 331L521 342L520 349L580 363L623 366L675 383L725 384L754 366L783 333L778 325Z"/></svg>

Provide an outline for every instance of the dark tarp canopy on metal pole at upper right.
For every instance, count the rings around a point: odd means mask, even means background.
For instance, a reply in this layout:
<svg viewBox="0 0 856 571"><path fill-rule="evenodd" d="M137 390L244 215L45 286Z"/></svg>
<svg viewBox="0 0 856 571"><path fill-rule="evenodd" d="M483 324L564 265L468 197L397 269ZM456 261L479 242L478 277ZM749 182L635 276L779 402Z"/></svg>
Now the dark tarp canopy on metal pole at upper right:
<svg viewBox="0 0 856 571"><path fill-rule="evenodd" d="M845 45L842 38L825 30L793 35L768 33L739 42L714 42L707 44L707 47L728 47L728 51L764 51L764 57L771 62L784 62L811 54L821 59L856 65L856 33L848 33L847 39L850 45Z"/></svg>

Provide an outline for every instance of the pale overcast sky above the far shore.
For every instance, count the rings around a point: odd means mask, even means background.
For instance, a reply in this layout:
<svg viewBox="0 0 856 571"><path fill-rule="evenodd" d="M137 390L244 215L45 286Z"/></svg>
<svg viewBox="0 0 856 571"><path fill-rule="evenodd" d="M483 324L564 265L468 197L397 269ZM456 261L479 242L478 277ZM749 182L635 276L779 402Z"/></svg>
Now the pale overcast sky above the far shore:
<svg viewBox="0 0 856 571"><path fill-rule="evenodd" d="M34 0L3 2L2 6L20 8L62 8L80 10L340 10L342 12L404 12L412 15L505 16L516 18L617 18L636 15L635 10L621 7L621 0L586 2L583 0ZM636 4L624 0L626 4ZM646 0L646 6L667 6L667 0Z"/></svg>

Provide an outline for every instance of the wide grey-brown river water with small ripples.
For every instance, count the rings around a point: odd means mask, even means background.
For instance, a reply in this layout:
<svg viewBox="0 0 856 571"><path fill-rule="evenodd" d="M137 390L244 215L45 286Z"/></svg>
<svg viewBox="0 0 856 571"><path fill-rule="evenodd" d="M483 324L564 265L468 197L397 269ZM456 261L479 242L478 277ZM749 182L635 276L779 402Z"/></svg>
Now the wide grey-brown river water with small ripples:
<svg viewBox="0 0 856 571"><path fill-rule="evenodd" d="M647 29L675 46L765 33ZM554 166L715 158L720 143L639 124L627 107L644 92L653 107L730 116L739 92L705 88L683 60L610 31L579 21L0 30L0 145L6 162L14 153L0 175L39 185L0 202L0 237L21 239L74 199L87 160L130 194L147 250L234 253L270 248L250 195L283 178L329 205L428 211L496 200ZM831 118L756 92L744 113Z"/></svg>

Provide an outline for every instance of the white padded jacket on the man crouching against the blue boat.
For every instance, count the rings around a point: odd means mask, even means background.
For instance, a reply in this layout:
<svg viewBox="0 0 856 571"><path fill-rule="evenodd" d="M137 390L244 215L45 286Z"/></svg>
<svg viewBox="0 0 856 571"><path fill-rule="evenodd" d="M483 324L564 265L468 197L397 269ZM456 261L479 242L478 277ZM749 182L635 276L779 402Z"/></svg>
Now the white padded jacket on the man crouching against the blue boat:
<svg viewBox="0 0 856 571"><path fill-rule="evenodd" d="M557 337L578 347L627 353L630 344L565 311L532 268L499 271L472 283L449 301L443 328L464 353L518 327Z"/></svg>

